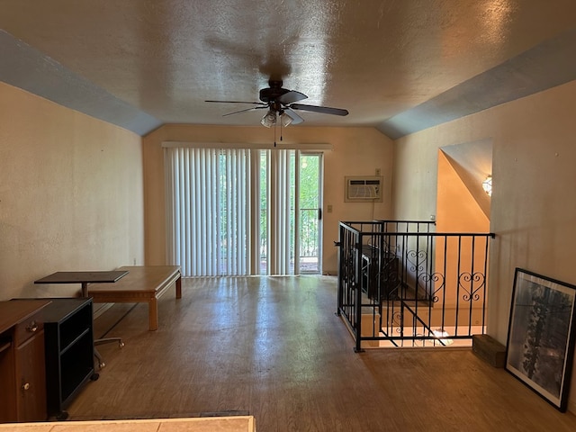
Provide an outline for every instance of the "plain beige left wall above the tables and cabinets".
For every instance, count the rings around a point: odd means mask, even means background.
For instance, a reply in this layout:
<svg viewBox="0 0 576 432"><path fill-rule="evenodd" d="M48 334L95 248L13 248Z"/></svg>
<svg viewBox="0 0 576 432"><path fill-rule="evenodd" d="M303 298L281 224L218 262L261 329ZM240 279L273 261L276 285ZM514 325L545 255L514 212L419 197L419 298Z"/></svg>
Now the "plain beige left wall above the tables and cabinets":
<svg viewBox="0 0 576 432"><path fill-rule="evenodd" d="M55 271L143 263L140 137L0 83L0 300Z"/></svg>

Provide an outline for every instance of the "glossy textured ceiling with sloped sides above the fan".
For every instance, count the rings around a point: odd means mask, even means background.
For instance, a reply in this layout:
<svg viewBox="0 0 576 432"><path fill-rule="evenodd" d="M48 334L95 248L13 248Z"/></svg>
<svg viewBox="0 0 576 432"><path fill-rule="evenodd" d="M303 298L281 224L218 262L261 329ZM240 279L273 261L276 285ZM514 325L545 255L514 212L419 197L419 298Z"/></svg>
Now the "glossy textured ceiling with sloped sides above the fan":
<svg viewBox="0 0 576 432"><path fill-rule="evenodd" d="M269 78L392 138L576 79L573 0L3 0L0 80L139 134Z"/></svg>

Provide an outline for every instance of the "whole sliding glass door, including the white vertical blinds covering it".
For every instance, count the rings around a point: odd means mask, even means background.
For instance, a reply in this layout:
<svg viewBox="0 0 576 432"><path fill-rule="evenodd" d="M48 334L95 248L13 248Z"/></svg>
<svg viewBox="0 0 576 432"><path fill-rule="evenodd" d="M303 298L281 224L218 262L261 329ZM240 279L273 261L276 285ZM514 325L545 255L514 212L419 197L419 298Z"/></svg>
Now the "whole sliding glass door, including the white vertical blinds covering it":
<svg viewBox="0 0 576 432"><path fill-rule="evenodd" d="M165 160L166 257L183 275L320 272L320 154L166 148Z"/></svg>

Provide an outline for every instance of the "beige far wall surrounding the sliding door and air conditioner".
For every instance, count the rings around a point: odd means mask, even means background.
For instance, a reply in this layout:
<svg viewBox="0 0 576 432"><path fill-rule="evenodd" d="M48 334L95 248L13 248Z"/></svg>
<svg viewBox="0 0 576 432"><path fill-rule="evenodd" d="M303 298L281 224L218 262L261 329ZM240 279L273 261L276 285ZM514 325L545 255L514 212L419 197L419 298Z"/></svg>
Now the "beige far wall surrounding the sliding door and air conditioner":
<svg viewBox="0 0 576 432"><path fill-rule="evenodd" d="M282 143L329 143L332 151L324 157L324 257L322 270L335 275L338 259L333 241L338 239L339 220L371 220L389 218L391 210L392 140L372 128L308 128L290 127L284 130ZM274 130L258 127L218 127L166 125L143 139L145 202L146 202L146 262L165 264L164 218L164 158L163 141L266 143L273 148ZM345 175L374 175L376 168L383 174L383 202L344 202ZM327 206L332 205L329 213Z"/></svg>

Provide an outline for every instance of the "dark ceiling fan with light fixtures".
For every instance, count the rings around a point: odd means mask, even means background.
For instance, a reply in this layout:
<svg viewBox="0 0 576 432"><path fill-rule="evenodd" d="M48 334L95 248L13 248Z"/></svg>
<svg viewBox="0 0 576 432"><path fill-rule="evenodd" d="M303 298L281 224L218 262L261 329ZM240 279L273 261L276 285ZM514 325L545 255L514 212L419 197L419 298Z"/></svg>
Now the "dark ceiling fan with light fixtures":
<svg viewBox="0 0 576 432"><path fill-rule="evenodd" d="M242 102L242 101L205 101L211 103L250 103L252 105L257 105L252 108L247 108L245 110L228 112L224 114L224 117L232 114L238 114L239 112L247 112L254 110L267 109L268 111L262 117L260 121L266 128L271 128L276 124L276 121L280 119L280 124L284 127L289 124L300 124L304 119L298 115L294 110L300 111L311 111L320 112L322 114L333 114L333 115L347 115L347 110L341 108L330 108L329 106L318 106L318 105L306 105L302 103L297 103L303 99L307 99L306 94L297 92L295 90L287 90L282 87L282 81L270 80L268 81L268 88L263 88L260 90L260 101L261 102Z"/></svg>

